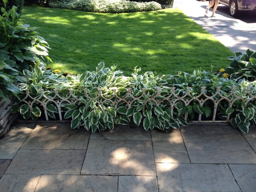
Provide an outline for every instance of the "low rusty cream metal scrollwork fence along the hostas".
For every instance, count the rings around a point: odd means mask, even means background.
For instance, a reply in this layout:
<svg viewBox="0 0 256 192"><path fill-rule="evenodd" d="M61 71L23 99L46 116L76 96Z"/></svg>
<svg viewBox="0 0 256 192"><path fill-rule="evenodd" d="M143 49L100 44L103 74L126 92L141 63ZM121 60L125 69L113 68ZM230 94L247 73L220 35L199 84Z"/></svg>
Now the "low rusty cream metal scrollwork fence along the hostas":
<svg viewBox="0 0 256 192"><path fill-rule="evenodd" d="M45 118L48 121L48 114L47 114L47 109L46 106L50 102L51 104L55 105L58 113L59 113L59 120L63 120L62 118L62 111L61 111L61 105L62 103L72 103L76 104L77 102L80 101L80 98L78 96L74 95L74 92L72 89L69 90L69 94L66 97L62 97L59 95L57 89L53 89L52 92L54 93L53 97L48 97L45 94L44 90L40 90L40 95L37 97L32 97L29 93L29 90L26 90L26 96L22 99L22 102L25 102L30 110L32 110L34 103L39 103L44 110ZM159 106L163 101L167 101L170 104L170 109L173 111L174 105L176 102L183 102L185 106L188 106L191 102L197 101L201 107L204 106L205 102L210 100L213 103L213 114L212 120L202 120L202 114L198 115L198 120L197 121L192 121L192 122L217 122L217 123L224 123L224 122L230 122L230 114L227 115L226 120L215 120L216 119L216 112L217 112L217 107L219 103L223 100L227 101L229 103L228 107L232 107L234 102L237 100L241 100L244 105L246 106L248 102L252 100L256 100L256 94L252 94L250 92L250 86L247 87L246 92L243 95L238 95L236 92L236 87L234 86L232 90L228 93L228 95L222 95L221 94L221 87L217 87L216 92L212 94L211 96L208 96L206 93L205 87L201 87L201 93L198 94L197 96L192 96L190 87L187 87L187 90L185 91L185 94L182 96L176 95L175 94L175 87L172 87L171 94L166 96L164 99L156 99L157 96L161 96L161 90L160 88L157 88L156 94L148 97L147 100L144 102L147 103L149 101L154 101L156 106ZM84 90L84 94L86 95L86 102L91 99L90 94ZM124 97L119 97L117 94L117 89L113 88L113 94L110 97L105 97L104 94L102 93L102 90L99 88L98 89L98 94L96 97L93 99L97 101L98 104L104 104L105 102L111 102L115 109L117 109L118 104L120 102L125 102L127 107L129 108L133 102L138 101L138 100L143 100L146 96L146 91L145 89L142 90L142 94L139 95L138 97L134 97L132 94L131 88L127 89L127 94ZM129 98L129 99L127 99ZM27 101L29 100L29 101ZM187 120L187 112L185 112L185 120Z"/></svg>

